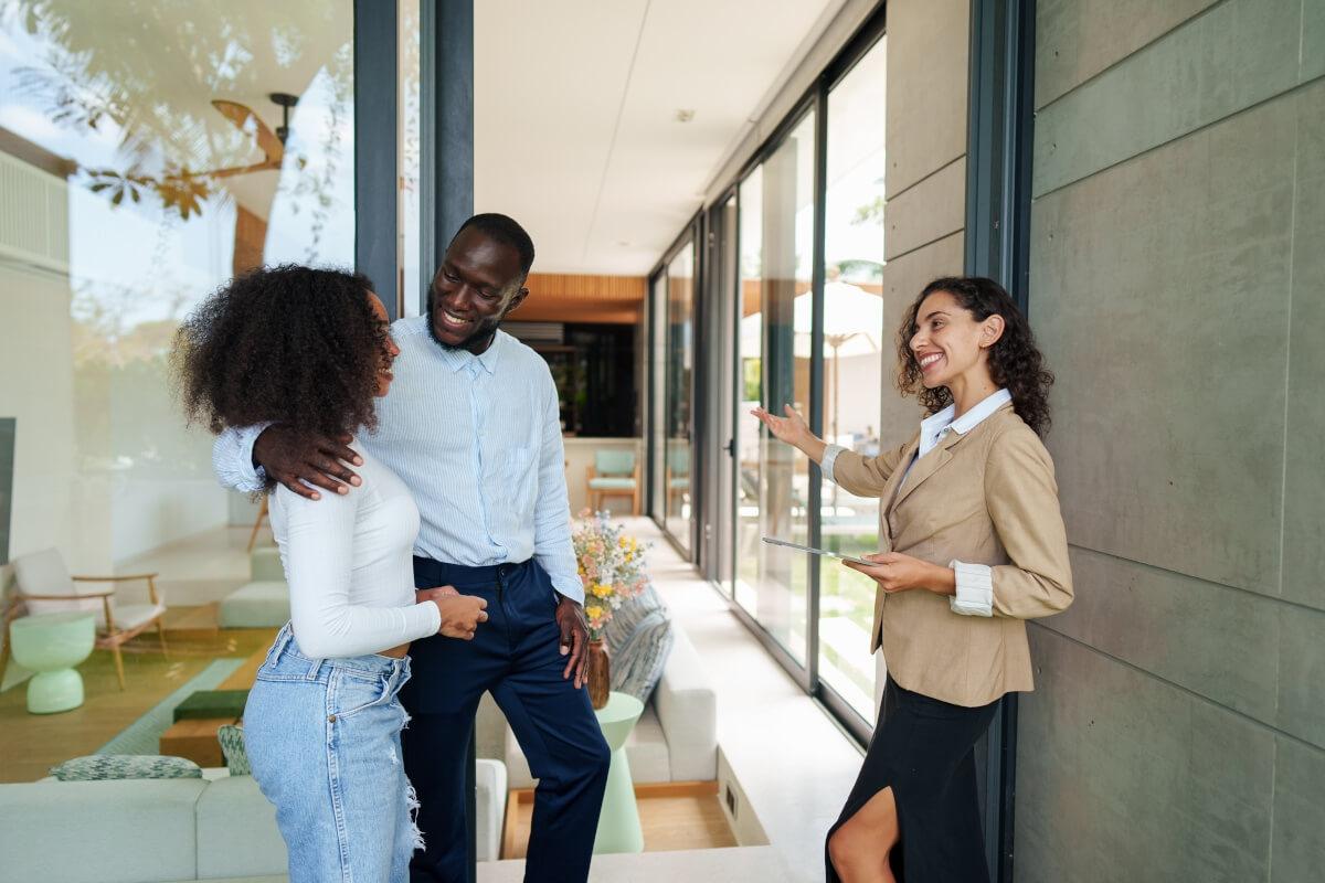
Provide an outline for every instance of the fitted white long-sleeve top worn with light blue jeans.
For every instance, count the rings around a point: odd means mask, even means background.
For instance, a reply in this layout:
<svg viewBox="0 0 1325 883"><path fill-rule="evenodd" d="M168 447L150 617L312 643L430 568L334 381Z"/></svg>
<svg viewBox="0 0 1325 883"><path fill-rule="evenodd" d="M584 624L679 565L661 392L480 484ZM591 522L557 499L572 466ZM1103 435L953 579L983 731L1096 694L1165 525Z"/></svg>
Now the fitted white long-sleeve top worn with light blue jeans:
<svg viewBox="0 0 1325 883"><path fill-rule="evenodd" d="M272 531L290 584L290 624L303 655L360 657L436 634L441 613L415 602L419 507L404 482L358 443L363 485L321 500L277 487Z"/></svg>

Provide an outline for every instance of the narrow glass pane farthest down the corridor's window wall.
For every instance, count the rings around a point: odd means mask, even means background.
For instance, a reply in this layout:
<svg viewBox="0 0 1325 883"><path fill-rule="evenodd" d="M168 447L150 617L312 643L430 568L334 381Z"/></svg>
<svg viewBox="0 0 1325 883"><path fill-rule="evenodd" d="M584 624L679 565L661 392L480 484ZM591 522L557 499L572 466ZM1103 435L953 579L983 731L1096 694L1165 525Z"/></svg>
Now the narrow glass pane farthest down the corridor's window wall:
<svg viewBox="0 0 1325 883"><path fill-rule="evenodd" d="M662 451L662 523L690 551L693 515L690 445L694 438L694 248L682 248L666 271L666 443Z"/></svg>

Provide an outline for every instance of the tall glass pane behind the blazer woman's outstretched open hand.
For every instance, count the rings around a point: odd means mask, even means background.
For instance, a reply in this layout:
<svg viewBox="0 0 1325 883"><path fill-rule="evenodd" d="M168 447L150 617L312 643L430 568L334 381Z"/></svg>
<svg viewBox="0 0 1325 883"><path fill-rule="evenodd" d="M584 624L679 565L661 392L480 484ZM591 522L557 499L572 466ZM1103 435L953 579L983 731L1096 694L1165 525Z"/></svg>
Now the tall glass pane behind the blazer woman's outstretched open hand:
<svg viewBox="0 0 1325 883"><path fill-rule="evenodd" d="M808 414L814 294L815 116L807 114L741 185L737 451L737 601L800 663L807 646L807 556L759 541L806 541L810 467L749 417L763 404Z"/></svg>

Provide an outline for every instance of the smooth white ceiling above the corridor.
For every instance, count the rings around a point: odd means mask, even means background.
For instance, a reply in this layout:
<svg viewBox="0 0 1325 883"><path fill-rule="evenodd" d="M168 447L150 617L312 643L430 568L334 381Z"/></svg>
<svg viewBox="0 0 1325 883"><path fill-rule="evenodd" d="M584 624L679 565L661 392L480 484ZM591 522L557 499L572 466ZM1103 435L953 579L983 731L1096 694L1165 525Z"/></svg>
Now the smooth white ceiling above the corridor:
<svg viewBox="0 0 1325 883"><path fill-rule="evenodd" d="M648 273L841 5L476 3L476 209L529 229L535 271Z"/></svg>

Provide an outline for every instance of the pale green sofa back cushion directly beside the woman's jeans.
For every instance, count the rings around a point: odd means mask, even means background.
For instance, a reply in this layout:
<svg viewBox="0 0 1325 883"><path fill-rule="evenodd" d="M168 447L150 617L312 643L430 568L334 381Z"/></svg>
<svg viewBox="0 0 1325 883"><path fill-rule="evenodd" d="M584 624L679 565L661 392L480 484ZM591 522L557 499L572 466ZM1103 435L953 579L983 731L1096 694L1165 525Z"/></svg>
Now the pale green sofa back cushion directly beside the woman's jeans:
<svg viewBox="0 0 1325 883"><path fill-rule="evenodd" d="M276 808L252 776L225 776L197 801L197 876L284 874L285 841Z"/></svg>

